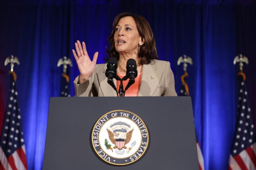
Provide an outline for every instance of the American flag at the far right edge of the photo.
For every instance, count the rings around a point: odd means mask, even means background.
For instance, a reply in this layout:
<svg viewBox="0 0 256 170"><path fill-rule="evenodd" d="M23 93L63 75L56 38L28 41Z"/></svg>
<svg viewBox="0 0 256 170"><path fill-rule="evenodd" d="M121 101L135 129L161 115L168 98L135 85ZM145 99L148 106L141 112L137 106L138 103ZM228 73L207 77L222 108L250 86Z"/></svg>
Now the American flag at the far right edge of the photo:
<svg viewBox="0 0 256 170"><path fill-rule="evenodd" d="M254 126L245 82L242 76L240 78L236 132L229 157L229 169L252 170L256 167Z"/></svg>

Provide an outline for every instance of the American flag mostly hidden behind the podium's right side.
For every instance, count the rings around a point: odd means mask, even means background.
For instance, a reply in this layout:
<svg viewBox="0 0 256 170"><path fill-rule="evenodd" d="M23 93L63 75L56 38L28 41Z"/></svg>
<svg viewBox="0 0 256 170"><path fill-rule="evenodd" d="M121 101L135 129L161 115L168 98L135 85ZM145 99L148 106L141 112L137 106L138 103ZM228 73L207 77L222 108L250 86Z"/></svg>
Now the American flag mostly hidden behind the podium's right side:
<svg viewBox="0 0 256 170"><path fill-rule="evenodd" d="M185 72L181 77L182 86L180 90L180 96L189 96L188 85L186 82L187 76L188 74ZM197 140L197 136L196 136L196 140ZM198 156L199 169L204 170L203 154L202 154L198 140L197 140L197 156Z"/></svg>

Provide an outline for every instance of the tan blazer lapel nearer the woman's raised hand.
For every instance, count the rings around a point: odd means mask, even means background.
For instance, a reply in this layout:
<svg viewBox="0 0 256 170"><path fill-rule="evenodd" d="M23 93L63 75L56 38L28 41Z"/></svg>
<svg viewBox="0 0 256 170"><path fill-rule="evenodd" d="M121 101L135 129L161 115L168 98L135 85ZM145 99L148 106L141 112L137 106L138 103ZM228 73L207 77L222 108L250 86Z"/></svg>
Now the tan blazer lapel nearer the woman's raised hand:
<svg viewBox="0 0 256 170"><path fill-rule="evenodd" d="M105 75L106 65L103 72L97 72L98 81L100 84L100 89L102 91L103 96L116 96L116 91L108 84L108 78ZM113 79L116 86L116 79Z"/></svg>

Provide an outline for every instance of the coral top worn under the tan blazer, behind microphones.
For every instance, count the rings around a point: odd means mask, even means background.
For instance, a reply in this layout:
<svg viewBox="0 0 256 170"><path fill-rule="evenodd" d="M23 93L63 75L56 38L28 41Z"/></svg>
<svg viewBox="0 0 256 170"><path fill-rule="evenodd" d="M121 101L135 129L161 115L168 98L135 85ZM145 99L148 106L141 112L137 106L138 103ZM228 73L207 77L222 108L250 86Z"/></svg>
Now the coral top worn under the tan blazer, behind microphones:
<svg viewBox="0 0 256 170"><path fill-rule="evenodd" d="M125 77L126 74L117 74L121 79L123 77ZM138 92L140 90L140 83L141 83L141 76L142 76L142 72L138 73L137 77L135 78L135 82L134 84L132 84L125 92L125 96L138 96ZM127 86L129 82L129 79L123 81L123 86L124 89ZM116 86L117 86L117 91L119 90L119 86L120 86L120 81L116 82Z"/></svg>

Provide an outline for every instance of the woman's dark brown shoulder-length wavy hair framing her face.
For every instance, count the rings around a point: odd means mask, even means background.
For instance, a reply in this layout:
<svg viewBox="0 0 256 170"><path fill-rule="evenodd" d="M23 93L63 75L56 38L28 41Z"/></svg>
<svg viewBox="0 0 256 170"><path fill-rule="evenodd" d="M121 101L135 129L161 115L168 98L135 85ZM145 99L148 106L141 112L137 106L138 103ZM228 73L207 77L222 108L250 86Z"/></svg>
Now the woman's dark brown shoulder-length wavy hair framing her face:
<svg viewBox="0 0 256 170"><path fill-rule="evenodd" d="M134 19L137 30L141 36L141 38L144 39L144 44L139 48L138 50L138 57L141 58L140 64L149 64L151 60L158 59L157 51L156 51L156 42L153 36L153 32L151 30L150 25L148 24L147 20L139 15L134 15L130 13L122 13L115 17L113 21L113 30L110 35L109 41L110 41L110 49L106 49L109 53L110 57L116 57L117 60L119 60L119 53L115 49L115 42L114 42L114 34L115 34L115 28L118 24L119 20L123 17L130 16ZM108 60L108 58L107 58Z"/></svg>

